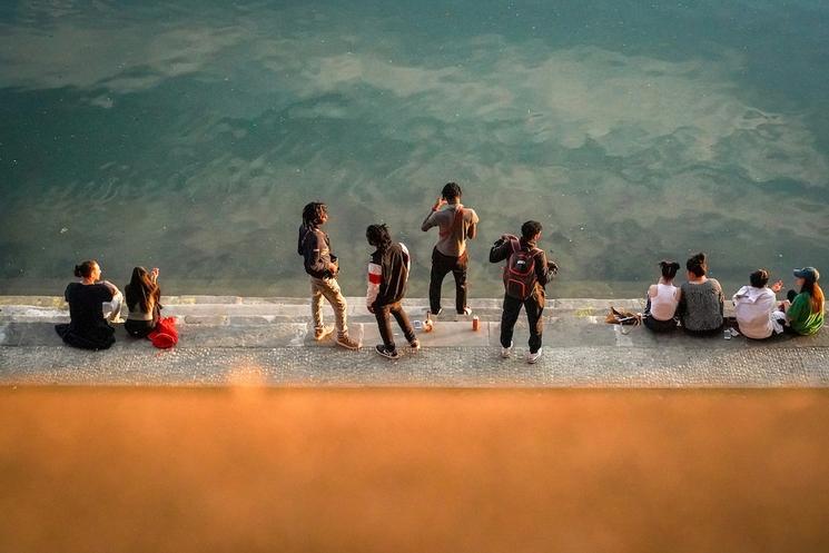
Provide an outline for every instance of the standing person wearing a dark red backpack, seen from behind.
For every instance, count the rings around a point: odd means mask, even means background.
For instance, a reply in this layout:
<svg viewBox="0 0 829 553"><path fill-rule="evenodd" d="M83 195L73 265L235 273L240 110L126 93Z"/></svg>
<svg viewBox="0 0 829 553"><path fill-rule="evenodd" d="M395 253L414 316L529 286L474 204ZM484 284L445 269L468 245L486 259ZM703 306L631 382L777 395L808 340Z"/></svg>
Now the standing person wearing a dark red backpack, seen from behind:
<svg viewBox="0 0 829 553"><path fill-rule="evenodd" d="M546 260L544 250L536 246L541 239L541 223L529 220L521 226L521 238L503 235L490 249L490 263L506 260L504 266L504 309L501 315L501 356L512 354L512 335L524 306L530 323L527 363L541 357L541 335L544 329L544 286L553 279L559 267Z"/></svg>

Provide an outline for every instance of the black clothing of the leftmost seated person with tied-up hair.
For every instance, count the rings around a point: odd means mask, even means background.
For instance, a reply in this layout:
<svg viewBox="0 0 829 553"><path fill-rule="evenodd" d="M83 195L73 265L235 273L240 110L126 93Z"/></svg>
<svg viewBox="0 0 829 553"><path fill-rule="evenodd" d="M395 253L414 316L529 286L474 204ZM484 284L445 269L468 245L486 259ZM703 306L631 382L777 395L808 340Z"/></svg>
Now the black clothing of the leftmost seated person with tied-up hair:
<svg viewBox="0 0 829 553"><path fill-rule="evenodd" d="M112 292L103 284L70 283L63 294L69 303L68 325L58 325L58 334L71 346L105 349L112 345L114 329L103 318L103 302L112 299Z"/></svg>

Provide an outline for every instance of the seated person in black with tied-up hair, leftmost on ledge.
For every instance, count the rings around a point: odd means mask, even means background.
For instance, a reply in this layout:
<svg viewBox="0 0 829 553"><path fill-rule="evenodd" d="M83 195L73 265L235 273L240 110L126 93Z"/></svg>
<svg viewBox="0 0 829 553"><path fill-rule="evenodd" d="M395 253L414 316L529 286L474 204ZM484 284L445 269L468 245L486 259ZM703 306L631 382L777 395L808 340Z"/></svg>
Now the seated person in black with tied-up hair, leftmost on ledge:
<svg viewBox="0 0 829 553"><path fill-rule="evenodd" d="M69 324L56 325L55 330L67 345L83 349L107 349L115 344L115 328L108 318L120 313L121 293L106 280L101 280L98 261L89 259L75 266L75 276L80 280L69 283L63 296L69 304ZM105 315L105 306L109 314Z"/></svg>

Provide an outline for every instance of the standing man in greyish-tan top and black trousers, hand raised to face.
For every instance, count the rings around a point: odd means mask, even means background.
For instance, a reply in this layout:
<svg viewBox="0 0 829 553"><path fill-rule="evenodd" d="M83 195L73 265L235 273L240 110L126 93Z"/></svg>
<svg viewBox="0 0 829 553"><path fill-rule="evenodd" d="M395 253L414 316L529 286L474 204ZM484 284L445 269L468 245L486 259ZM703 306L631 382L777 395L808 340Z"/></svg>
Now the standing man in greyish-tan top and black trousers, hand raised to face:
<svg viewBox="0 0 829 553"><path fill-rule="evenodd" d="M441 197L432 206L432 213L421 226L424 233L432 227L438 228L437 244L432 250L432 275L428 284L430 312L433 315L441 313L441 285L450 271L455 277L457 313L472 313L466 306L466 240L477 235L477 223L475 210L461 204L461 187L455 182L448 182L443 187Z"/></svg>

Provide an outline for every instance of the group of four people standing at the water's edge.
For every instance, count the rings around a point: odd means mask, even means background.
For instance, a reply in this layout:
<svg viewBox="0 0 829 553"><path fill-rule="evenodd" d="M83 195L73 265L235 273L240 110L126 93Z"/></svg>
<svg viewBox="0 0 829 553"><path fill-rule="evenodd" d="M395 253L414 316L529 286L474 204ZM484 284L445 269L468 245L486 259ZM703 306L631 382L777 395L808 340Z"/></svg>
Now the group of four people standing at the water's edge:
<svg viewBox="0 0 829 553"><path fill-rule="evenodd" d="M474 209L461 203L462 190L456 182L443 187L441 196L432 206L421 226L423 231L438 228L438 239L432 250L432 271L430 274L427 318L437 316L441 306L441 286L446 275L452 273L455 280L455 310L458 315L471 315L466 304L468 251L466 241L477 236L480 221ZM332 253L330 239L322 229L328 220L325 204L310 203L303 209L303 224L299 227L297 253L304 258L305 271L310 278L312 317L314 338L322 340L336 330L335 343L346 349L357 349L361 344L348 335L346 320L346 299L337 283L339 266ZM526 310L530 323L530 352L527 363L535 363L542 354L542 333L544 320L544 286L557 271L554 263L547 261L544 250L537 247L542 226L539 221L526 221L521 228L521 237L502 235L490 251L491 263L505 261L504 267L504 310L501 324L501 354L509 357L513 347L513 329L521 307ZM391 317L403 330L412 349L421 345L402 300L406 294L411 257L404 244L392 239L384 224L369 225L366 240L374 247L367 271L366 307L377 319L383 344L375 350L387 358L396 359L399 352L394 342ZM323 322L322 302L327 299L334 309L335 326Z"/></svg>

